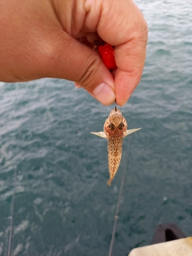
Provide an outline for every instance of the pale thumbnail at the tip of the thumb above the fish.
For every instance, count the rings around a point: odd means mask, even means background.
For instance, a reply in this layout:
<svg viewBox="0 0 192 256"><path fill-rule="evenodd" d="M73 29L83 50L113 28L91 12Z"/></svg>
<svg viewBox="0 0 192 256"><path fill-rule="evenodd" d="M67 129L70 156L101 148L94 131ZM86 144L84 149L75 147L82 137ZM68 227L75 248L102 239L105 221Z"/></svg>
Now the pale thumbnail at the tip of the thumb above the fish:
<svg viewBox="0 0 192 256"><path fill-rule="evenodd" d="M114 103L115 94L114 90L106 83L101 83L93 90L94 97L103 105L110 105Z"/></svg>

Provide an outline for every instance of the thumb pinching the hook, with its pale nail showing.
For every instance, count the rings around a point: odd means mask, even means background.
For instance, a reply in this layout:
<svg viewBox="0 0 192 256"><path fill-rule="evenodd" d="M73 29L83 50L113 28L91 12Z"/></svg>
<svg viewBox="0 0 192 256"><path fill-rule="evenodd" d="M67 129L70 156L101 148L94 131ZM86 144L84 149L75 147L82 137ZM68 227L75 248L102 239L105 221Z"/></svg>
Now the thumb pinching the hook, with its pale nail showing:
<svg viewBox="0 0 192 256"><path fill-rule="evenodd" d="M64 35L58 40L57 53L52 63L54 68L50 67L49 70L51 77L74 81L103 105L112 104L115 100L114 78L102 59L90 47L65 32Z"/></svg>

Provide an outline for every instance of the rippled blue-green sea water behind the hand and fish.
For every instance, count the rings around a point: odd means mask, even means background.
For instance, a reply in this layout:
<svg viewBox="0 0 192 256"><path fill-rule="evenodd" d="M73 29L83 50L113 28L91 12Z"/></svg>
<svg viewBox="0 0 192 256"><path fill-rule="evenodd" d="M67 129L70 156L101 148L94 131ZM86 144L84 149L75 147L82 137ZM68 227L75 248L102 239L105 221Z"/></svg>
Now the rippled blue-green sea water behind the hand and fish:
<svg viewBox="0 0 192 256"><path fill-rule="evenodd" d="M102 106L72 82L0 83L0 255L107 255L124 186L113 255L150 244L155 226L192 234L192 4L136 2L149 25L146 66L122 107L129 128L107 186Z"/></svg>

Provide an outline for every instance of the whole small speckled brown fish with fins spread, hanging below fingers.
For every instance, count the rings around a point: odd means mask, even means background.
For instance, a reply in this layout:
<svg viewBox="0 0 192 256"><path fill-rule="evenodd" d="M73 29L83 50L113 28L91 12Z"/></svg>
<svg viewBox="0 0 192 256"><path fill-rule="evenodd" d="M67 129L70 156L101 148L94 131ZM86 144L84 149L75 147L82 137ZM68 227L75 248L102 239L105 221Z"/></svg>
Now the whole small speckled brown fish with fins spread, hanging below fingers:
<svg viewBox="0 0 192 256"><path fill-rule="evenodd" d="M107 184L114 179L114 175L118 171L118 166L122 158L122 139L129 134L133 134L135 131L141 128L127 130L126 118L122 116L122 112L116 107L110 111L110 115L106 118L106 122L103 126L103 131L91 132L99 137L106 138L108 140L108 164L110 179Z"/></svg>

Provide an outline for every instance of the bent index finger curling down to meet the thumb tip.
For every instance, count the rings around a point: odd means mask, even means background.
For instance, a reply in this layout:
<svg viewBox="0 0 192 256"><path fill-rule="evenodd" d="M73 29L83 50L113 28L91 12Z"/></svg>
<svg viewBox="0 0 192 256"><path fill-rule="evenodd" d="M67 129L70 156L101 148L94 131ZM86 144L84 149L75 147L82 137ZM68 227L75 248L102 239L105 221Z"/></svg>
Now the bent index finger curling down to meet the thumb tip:
<svg viewBox="0 0 192 256"><path fill-rule="evenodd" d="M142 77L146 59L147 25L131 0L103 2L98 34L115 46L114 72L116 102L122 106Z"/></svg>

